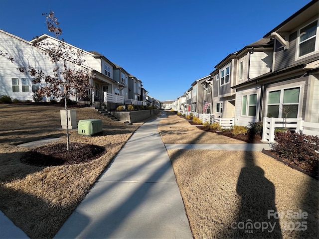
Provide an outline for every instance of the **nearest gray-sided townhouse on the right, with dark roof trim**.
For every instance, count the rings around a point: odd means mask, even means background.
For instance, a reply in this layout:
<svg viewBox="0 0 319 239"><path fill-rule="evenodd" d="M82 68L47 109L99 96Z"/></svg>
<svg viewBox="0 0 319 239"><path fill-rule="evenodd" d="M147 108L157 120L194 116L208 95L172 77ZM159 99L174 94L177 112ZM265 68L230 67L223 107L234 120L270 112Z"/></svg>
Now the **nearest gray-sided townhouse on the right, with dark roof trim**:
<svg viewBox="0 0 319 239"><path fill-rule="evenodd" d="M280 23L264 39L273 39L271 71L232 87L237 124L263 117L303 118L319 122L319 4L313 0Z"/></svg>

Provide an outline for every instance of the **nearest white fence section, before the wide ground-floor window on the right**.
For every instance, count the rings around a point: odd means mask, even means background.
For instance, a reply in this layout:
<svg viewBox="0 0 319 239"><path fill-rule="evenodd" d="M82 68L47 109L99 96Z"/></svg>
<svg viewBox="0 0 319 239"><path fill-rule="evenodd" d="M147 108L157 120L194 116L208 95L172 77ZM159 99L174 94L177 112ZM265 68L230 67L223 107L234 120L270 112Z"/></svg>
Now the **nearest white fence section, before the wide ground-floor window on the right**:
<svg viewBox="0 0 319 239"><path fill-rule="evenodd" d="M319 123L305 122L303 118L267 118L263 121L262 141L273 143L275 140L275 128L288 128L297 133L307 135L319 135Z"/></svg>

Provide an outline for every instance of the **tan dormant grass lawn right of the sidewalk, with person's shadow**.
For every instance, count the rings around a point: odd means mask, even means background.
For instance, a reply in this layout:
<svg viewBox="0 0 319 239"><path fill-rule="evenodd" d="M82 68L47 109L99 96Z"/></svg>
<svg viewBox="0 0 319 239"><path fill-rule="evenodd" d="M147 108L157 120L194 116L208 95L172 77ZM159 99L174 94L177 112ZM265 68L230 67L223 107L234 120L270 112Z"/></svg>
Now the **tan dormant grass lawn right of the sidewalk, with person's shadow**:
<svg viewBox="0 0 319 239"><path fill-rule="evenodd" d="M186 125L176 115L161 120L163 142L243 143ZM168 155L195 239L319 237L317 180L262 152L168 150ZM268 218L268 210L282 216ZM300 212L307 219L298 218ZM263 223L268 228L261 232Z"/></svg>

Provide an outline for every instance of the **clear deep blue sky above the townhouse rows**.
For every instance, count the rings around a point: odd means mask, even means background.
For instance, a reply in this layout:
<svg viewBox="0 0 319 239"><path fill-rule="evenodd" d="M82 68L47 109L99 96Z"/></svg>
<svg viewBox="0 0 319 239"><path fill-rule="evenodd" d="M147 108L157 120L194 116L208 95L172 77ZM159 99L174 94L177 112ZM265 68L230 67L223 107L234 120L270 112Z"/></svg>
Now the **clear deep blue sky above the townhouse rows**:
<svg viewBox="0 0 319 239"><path fill-rule="evenodd" d="M25 40L48 34L41 13L51 8L68 43L103 54L166 101L310 1L0 0L0 29Z"/></svg>

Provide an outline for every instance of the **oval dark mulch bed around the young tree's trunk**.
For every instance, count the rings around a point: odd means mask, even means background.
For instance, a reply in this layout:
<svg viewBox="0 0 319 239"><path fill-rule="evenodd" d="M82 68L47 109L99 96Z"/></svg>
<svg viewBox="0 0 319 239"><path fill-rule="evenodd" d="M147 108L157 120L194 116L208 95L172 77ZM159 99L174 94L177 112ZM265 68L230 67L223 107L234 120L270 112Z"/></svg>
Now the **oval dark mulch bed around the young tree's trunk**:
<svg viewBox="0 0 319 239"><path fill-rule="evenodd" d="M67 151L66 143L42 146L26 152L20 158L25 164L34 166L57 166L87 163L100 157L105 148L85 143L70 143Z"/></svg>

